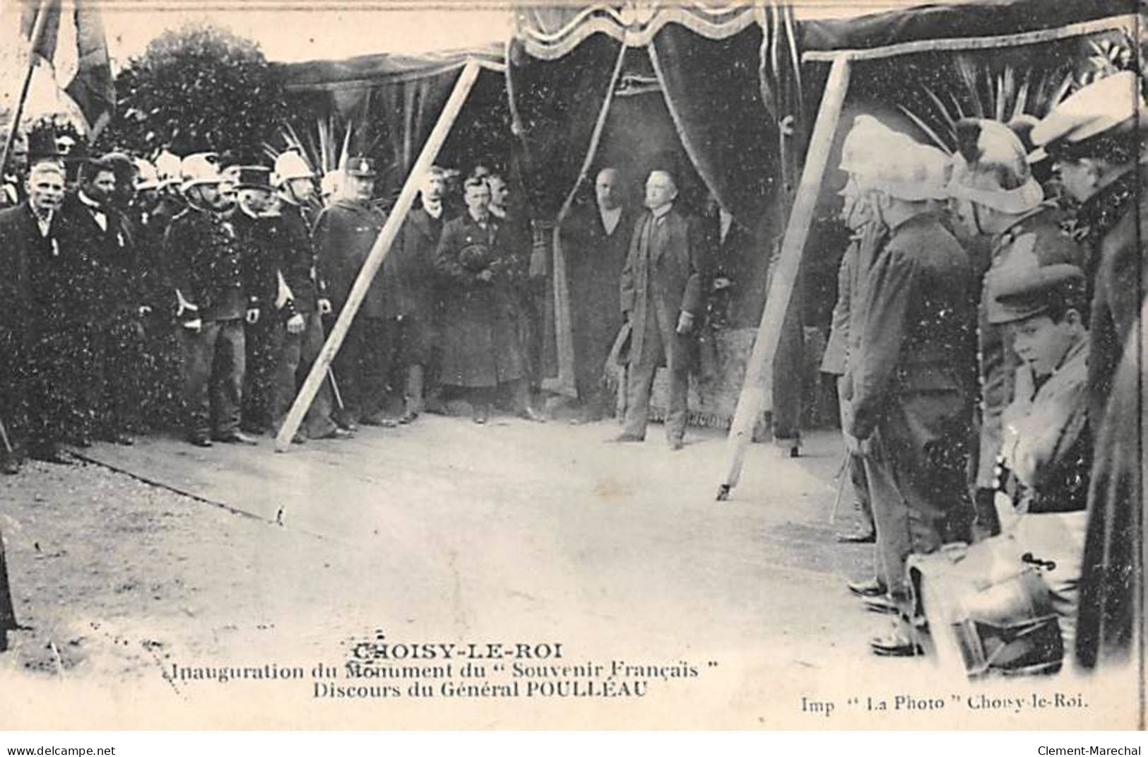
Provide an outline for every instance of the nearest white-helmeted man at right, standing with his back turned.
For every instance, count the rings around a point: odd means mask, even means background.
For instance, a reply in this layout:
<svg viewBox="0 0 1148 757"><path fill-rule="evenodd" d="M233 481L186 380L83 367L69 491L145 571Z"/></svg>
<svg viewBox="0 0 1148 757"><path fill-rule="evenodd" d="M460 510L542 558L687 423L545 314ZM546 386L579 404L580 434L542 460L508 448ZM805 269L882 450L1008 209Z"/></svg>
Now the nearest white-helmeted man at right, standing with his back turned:
<svg viewBox="0 0 1148 757"><path fill-rule="evenodd" d="M866 284L860 350L851 356L846 446L861 453L872 495L881 573L895 613L878 655L912 655L910 554L967 539L965 484L971 419L971 269L931 211L944 196L947 157L890 131L884 159L864 177L874 219L887 229Z"/></svg>

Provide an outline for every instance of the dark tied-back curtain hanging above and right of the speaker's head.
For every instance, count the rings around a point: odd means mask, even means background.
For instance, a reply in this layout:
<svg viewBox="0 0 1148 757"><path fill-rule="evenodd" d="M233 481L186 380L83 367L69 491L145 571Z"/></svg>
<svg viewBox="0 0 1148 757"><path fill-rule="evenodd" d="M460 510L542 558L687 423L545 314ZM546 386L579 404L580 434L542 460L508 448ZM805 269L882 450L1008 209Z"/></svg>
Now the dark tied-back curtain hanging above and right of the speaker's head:
<svg viewBox="0 0 1148 757"><path fill-rule="evenodd" d="M758 79L761 29L713 40L669 24L651 52L682 142L723 208L754 227L777 175L777 132Z"/></svg>

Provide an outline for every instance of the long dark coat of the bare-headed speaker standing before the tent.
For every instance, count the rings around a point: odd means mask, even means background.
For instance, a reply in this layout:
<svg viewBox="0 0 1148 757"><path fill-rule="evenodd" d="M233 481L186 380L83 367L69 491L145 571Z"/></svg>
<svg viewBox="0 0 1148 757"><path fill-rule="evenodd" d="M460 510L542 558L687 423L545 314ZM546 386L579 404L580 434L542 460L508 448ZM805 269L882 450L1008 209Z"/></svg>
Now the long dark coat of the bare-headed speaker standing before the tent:
<svg viewBox="0 0 1148 757"><path fill-rule="evenodd" d="M647 224L651 231L654 224L660 229L656 238L651 235L657 241L651 241L649 254L644 255L642 239ZM695 323L700 325L704 247L705 232L697 218L684 215L676 207L661 218L654 218L647 210L634 224L619 289L621 310L630 314L634 324L633 358L642 355L646 312L651 308L658 322L668 324L670 331L682 311L692 314ZM666 349L673 343L669 337L664 334Z"/></svg>

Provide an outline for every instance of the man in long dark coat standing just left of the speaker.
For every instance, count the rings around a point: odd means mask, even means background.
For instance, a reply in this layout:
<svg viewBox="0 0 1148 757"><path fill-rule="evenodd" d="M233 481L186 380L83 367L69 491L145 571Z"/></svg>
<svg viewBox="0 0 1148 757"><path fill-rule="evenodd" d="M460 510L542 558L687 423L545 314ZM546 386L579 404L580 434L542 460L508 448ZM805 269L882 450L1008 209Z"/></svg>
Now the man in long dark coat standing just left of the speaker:
<svg viewBox="0 0 1148 757"><path fill-rule="evenodd" d="M598 171L594 191L595 202L575 208L563 224L574 332L574 381L582 404L575 423L599 420L607 410L603 372L623 323L618 281L634 231L634 213L622 202L618 169L607 167Z"/></svg>

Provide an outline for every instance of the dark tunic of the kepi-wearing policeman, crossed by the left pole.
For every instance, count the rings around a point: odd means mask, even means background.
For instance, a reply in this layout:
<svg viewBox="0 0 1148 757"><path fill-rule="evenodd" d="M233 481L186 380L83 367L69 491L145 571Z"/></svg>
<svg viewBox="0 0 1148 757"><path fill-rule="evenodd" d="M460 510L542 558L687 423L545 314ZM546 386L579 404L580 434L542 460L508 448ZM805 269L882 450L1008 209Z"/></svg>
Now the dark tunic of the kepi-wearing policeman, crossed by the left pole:
<svg viewBox="0 0 1148 757"><path fill-rule="evenodd" d="M387 215L382 210L351 200L340 200L324 208L316 218L311 239L315 242L319 278L326 283L336 311L346 304L347 295L385 223ZM364 318L386 317L382 276L375 273L356 315Z"/></svg>

